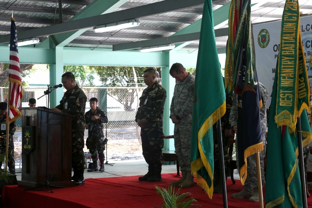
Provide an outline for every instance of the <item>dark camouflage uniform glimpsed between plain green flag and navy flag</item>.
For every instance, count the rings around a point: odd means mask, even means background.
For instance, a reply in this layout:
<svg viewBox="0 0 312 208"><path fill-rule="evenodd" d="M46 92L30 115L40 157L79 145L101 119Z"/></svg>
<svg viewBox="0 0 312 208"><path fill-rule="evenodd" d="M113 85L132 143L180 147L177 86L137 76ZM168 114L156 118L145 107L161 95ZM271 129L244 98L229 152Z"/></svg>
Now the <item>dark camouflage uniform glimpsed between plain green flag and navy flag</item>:
<svg viewBox="0 0 312 208"><path fill-rule="evenodd" d="M223 159L224 159L224 169L225 169L225 178L230 171L230 158L228 151L228 142L231 136L225 136L225 129L231 129L231 124L229 121L230 111L232 107L232 96L226 96L226 111L224 116L221 117L221 135L222 135L222 145L223 145ZM220 155L219 155L219 146L218 146L218 125L217 122L212 126L213 132L213 151L214 151L214 186L219 182L220 178Z"/></svg>

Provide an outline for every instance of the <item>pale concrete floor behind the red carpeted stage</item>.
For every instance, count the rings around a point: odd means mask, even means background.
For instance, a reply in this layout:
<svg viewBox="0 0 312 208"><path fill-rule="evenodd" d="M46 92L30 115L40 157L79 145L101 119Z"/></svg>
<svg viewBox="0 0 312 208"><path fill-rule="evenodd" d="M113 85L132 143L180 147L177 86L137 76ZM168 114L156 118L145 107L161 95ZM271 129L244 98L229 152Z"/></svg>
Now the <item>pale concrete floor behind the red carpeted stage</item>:
<svg viewBox="0 0 312 208"><path fill-rule="evenodd" d="M147 164L145 160L108 161L108 163L113 166L105 165L105 172L87 172L87 169L85 169L84 177L108 178L116 176L141 176L147 173ZM162 165L161 173L176 173L176 165ZM20 181L22 178L20 168L16 168L16 177L17 181ZM234 178L239 179L239 176L238 174L235 174L235 171Z"/></svg>

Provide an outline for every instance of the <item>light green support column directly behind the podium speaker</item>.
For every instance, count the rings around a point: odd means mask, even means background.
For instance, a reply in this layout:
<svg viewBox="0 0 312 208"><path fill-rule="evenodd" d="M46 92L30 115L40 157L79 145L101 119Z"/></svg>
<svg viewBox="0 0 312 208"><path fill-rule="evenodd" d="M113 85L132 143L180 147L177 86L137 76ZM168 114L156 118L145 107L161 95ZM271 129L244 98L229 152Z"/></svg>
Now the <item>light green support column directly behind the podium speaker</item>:
<svg viewBox="0 0 312 208"><path fill-rule="evenodd" d="M63 74L63 47L55 47L55 63L50 64L50 86L62 83ZM63 87L57 88L50 94L50 107L55 107L59 104L63 97Z"/></svg>

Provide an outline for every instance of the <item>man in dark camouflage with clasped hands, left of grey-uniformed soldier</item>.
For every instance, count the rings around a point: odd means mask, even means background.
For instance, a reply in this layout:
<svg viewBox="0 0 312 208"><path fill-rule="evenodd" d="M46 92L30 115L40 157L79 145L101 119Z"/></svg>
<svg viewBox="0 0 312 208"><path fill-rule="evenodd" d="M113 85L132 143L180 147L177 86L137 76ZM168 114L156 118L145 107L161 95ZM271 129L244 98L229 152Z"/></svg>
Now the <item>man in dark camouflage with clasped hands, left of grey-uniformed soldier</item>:
<svg viewBox="0 0 312 208"><path fill-rule="evenodd" d="M144 82L148 86L140 97L140 107L136 112L138 126L141 127L142 152L148 172L139 181L162 181L161 165L164 134L162 130L166 90L156 81L156 72L149 68L144 71Z"/></svg>

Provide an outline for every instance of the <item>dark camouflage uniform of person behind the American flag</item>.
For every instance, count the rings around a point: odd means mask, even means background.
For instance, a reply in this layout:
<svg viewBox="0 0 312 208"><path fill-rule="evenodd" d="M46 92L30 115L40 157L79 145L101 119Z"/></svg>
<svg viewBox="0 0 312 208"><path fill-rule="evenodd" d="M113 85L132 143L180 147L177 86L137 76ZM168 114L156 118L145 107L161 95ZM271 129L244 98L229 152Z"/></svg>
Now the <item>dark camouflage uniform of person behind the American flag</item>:
<svg viewBox="0 0 312 208"><path fill-rule="evenodd" d="M0 123L5 124L6 126L6 118L7 115L0 116ZM8 160L7 160L7 167L9 168L10 173L15 175L15 161L14 161L14 143L13 143L13 135L16 130L16 123L13 121L9 125L9 148L8 148ZM0 130L0 154L5 154L6 151L6 135L7 135L7 129L5 127L5 130ZM2 137L3 136L3 137ZM2 162L0 162L0 169L2 166Z"/></svg>

